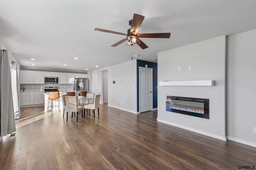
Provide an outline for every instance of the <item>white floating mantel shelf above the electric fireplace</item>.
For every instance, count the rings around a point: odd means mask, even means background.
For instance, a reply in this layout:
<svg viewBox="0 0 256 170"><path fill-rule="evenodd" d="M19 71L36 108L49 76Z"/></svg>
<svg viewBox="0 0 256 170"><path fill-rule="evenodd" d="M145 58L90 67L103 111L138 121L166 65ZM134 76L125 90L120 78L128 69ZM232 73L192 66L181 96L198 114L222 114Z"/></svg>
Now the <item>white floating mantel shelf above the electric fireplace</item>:
<svg viewBox="0 0 256 170"><path fill-rule="evenodd" d="M159 86L214 86L214 80L163 81Z"/></svg>

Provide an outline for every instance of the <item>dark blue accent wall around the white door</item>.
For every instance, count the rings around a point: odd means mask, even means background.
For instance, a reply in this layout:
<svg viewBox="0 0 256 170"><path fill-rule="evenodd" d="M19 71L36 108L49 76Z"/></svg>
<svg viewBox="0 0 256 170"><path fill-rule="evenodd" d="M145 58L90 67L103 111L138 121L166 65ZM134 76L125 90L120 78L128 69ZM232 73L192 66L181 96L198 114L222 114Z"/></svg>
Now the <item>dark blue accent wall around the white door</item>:
<svg viewBox="0 0 256 170"><path fill-rule="evenodd" d="M148 61L137 60L137 111L140 111L139 104L139 67L145 67L148 65L148 68L153 68L153 108L157 108L157 63L152 63Z"/></svg>

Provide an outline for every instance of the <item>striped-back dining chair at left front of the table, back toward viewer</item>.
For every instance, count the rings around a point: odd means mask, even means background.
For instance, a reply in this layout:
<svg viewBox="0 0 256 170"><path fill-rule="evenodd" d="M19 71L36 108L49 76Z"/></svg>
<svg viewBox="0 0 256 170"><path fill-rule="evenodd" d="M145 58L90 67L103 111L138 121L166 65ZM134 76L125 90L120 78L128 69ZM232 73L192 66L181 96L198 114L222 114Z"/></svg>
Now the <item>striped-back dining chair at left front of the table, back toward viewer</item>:
<svg viewBox="0 0 256 170"><path fill-rule="evenodd" d="M83 106L78 106L78 97L77 96L66 96L66 106L67 106L67 121L68 121L68 112L74 112L76 114L76 121L78 121L78 112L83 110Z"/></svg>

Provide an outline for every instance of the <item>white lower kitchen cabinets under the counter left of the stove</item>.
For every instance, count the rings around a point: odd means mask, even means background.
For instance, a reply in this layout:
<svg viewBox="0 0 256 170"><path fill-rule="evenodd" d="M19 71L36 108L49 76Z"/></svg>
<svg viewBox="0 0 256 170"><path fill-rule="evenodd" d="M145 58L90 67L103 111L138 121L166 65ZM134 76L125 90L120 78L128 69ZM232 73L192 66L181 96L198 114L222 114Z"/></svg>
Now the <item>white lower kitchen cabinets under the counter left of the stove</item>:
<svg viewBox="0 0 256 170"><path fill-rule="evenodd" d="M44 92L21 92L20 106L44 104Z"/></svg>

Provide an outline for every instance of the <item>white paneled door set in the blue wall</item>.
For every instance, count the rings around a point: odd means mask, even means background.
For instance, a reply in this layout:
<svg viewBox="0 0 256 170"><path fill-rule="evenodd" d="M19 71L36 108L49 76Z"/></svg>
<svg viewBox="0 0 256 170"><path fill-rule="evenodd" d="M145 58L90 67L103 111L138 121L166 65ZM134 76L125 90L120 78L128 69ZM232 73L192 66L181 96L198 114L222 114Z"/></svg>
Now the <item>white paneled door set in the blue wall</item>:
<svg viewBox="0 0 256 170"><path fill-rule="evenodd" d="M140 112L152 110L152 68L140 67Z"/></svg>

